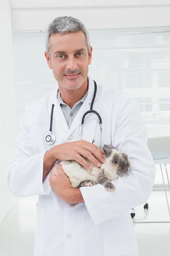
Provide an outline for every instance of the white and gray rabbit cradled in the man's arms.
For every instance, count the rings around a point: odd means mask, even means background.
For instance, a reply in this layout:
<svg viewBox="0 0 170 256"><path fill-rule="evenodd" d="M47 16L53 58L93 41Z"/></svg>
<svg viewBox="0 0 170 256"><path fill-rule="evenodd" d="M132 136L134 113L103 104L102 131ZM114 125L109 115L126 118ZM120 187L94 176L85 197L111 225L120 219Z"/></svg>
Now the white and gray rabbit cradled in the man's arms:
<svg viewBox="0 0 170 256"><path fill-rule="evenodd" d="M102 149L106 155L106 162L101 167L94 166L93 163L86 159L91 164L92 170L86 169L75 160L61 161L62 168L68 176L72 187L80 188L99 183L107 191L113 192L115 186L111 181L117 177L128 175L130 162L127 155L111 145L104 145ZM55 169L54 174L57 175L57 169Z"/></svg>

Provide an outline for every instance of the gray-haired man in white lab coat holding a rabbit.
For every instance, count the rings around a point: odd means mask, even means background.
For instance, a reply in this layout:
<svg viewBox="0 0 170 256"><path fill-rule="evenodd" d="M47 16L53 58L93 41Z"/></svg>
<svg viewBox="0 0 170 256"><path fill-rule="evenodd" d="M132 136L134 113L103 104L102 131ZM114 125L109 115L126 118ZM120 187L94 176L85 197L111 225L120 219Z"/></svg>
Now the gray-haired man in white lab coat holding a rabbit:
<svg viewBox="0 0 170 256"><path fill-rule="evenodd" d="M98 167L105 162L96 115L85 118L80 140L82 116L94 95L94 81L88 76L92 47L85 26L73 17L53 20L45 58L59 88L26 106L8 169L14 195L39 195L34 256L139 256L129 210L147 201L155 176L139 109L125 93L97 83L94 110L102 117L102 145L114 145L128 155L130 174L113 181L115 192L100 184L72 188L60 165L54 175L58 160L77 160L88 169L85 158ZM49 146L45 136L51 104L56 142Z"/></svg>

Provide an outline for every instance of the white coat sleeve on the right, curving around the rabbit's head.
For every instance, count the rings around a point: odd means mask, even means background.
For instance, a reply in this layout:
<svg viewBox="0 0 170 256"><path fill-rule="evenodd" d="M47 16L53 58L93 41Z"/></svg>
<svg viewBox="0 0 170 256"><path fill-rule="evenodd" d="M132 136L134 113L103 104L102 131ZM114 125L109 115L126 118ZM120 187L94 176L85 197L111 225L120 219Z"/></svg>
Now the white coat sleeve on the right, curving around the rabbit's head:
<svg viewBox="0 0 170 256"><path fill-rule="evenodd" d="M115 123L112 125L115 127ZM147 146L145 125L136 102L128 96L119 107L113 134L114 147L128 155L131 169L129 175L112 181L115 192L106 191L100 184L80 188L95 224L144 204L153 188L156 170Z"/></svg>

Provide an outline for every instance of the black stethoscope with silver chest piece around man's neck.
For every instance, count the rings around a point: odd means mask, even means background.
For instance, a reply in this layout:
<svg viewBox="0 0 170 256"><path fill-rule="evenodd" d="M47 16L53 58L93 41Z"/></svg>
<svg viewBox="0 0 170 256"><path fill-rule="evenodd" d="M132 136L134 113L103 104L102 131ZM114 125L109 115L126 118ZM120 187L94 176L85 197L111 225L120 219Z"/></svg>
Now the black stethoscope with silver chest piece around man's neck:
<svg viewBox="0 0 170 256"><path fill-rule="evenodd" d="M80 131L81 131L81 140L82 140L82 128L83 128L85 116L89 113L96 114L99 118L99 125L100 125L100 146L99 146L99 148L101 148L101 143L102 143L102 118L101 118L101 116L99 115L99 113L97 111L93 110L94 100L95 100L95 97L96 97L96 91L97 91L97 84L94 81L94 95L93 95L93 99L92 99L92 102L91 102L91 107L90 107L90 110L85 112L84 115L82 116L82 123L81 123ZM53 110L54 110L54 104L52 104L52 107L51 107L50 131L49 131L49 134L45 137L45 141L47 142L48 145L53 145L56 141L55 135L52 134ZM93 139L92 143L94 143L94 142L95 142L95 140Z"/></svg>

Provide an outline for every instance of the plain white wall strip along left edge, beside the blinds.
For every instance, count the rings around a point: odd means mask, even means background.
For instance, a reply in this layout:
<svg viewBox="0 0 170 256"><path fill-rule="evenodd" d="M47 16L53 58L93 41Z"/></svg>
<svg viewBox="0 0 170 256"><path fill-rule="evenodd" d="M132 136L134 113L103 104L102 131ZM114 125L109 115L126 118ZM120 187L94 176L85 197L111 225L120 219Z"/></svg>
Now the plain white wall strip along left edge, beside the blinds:
<svg viewBox="0 0 170 256"><path fill-rule="evenodd" d="M4 26L5 25L5 26ZM14 71L11 9L8 0L0 0L0 222L14 203L6 186L6 169L15 140Z"/></svg>

